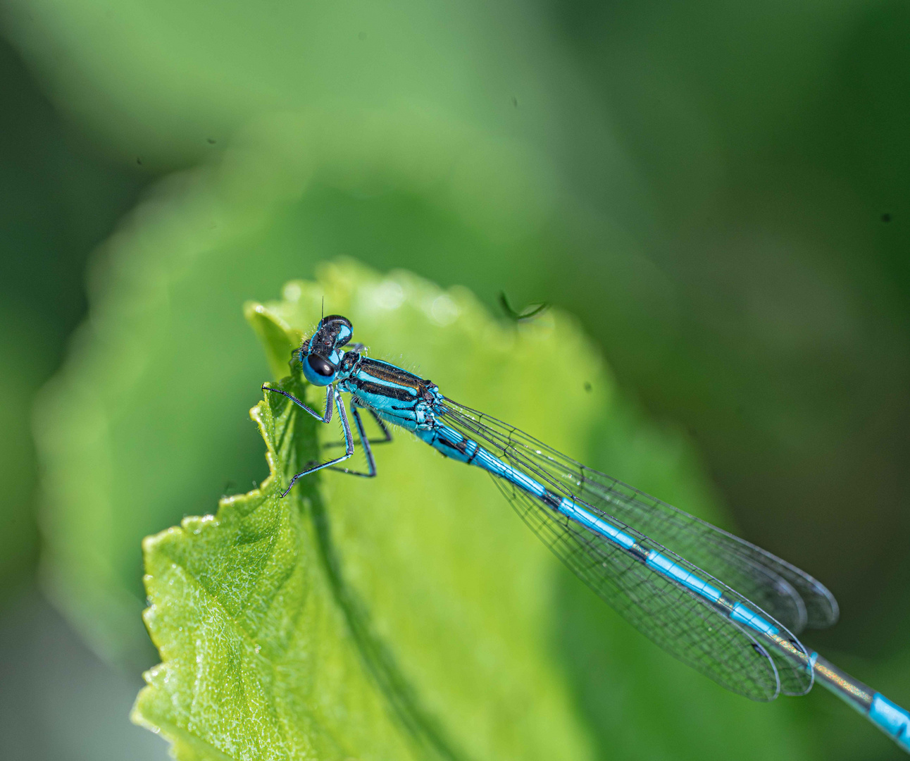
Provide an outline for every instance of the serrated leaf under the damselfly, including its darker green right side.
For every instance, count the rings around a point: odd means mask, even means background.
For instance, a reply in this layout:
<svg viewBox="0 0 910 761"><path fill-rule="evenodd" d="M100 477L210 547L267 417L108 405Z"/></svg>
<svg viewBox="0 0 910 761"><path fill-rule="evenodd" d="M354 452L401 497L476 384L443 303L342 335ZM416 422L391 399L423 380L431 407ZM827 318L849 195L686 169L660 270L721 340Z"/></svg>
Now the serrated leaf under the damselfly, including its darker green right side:
<svg viewBox="0 0 910 761"><path fill-rule="evenodd" d="M565 452L591 440L630 462L649 452L673 495L705 499L682 440L642 426L558 311L516 328L464 289L349 261L284 295L246 309L278 371L325 299L371 356ZM322 391L282 383L321 409ZM178 758L792 755L785 710L723 692L634 632L485 473L398 431L376 448L376 479L322 472L282 500L300 463L326 456L314 435L340 431L273 394L252 415L268 479L145 544L146 619L164 663L134 719Z"/></svg>

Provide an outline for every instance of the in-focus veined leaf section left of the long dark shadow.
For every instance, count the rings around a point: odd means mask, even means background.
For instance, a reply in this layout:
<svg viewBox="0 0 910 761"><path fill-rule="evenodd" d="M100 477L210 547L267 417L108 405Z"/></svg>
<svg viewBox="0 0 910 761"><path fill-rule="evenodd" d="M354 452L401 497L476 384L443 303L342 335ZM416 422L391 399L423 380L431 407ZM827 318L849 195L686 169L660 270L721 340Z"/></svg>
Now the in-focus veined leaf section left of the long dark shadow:
<svg viewBox="0 0 910 761"><path fill-rule="evenodd" d="M289 379L283 388L305 393ZM273 394L250 415L266 481L144 545L145 618L165 660L134 718L172 739L178 758L402 757L316 560L315 480L280 498L318 455L314 425Z"/></svg>

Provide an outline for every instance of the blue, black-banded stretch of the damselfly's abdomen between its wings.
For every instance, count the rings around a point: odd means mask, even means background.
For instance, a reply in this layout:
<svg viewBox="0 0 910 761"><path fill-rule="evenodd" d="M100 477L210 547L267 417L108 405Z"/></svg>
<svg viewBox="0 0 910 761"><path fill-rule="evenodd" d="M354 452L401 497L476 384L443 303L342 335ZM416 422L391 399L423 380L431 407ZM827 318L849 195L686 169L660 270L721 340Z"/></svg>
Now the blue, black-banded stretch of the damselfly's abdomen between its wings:
<svg viewBox="0 0 910 761"><path fill-rule="evenodd" d="M778 629L761 615L742 603L733 603L723 597L723 592L713 584L676 563L667 555L657 550L642 547L630 534L622 531L609 521L592 514L585 507L573 502L569 497L560 497L548 491L540 482L529 475L503 462L500 458L481 447L477 441L468 439L447 425L435 425L427 431L417 431L417 435L430 446L442 452L446 457L469 465L477 465L493 475L515 484L522 491L543 502L548 508L560 512L571 521L584 526L592 533L596 533L608 542L632 554L638 561L644 563L653 571L680 584L690 592L699 595L704 600L712 603L718 610L723 610L729 618L738 624L744 624L760 634L774 636L779 634Z"/></svg>

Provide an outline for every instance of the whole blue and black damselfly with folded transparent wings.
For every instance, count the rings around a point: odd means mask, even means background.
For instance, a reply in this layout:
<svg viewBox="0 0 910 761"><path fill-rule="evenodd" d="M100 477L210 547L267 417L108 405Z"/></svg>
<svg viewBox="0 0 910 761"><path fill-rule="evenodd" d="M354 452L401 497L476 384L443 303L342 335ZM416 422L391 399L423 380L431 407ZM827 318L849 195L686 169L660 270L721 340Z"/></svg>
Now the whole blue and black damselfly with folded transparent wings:
<svg viewBox="0 0 910 761"><path fill-rule="evenodd" d="M563 563L664 650L719 685L753 700L804 695L818 680L910 751L910 714L844 674L797 638L838 616L834 596L808 573L754 544L591 470L511 425L443 396L439 387L350 344L350 321L330 315L295 352L304 377L326 387L325 411L282 394L317 420L337 410L345 452L314 462L288 483L331 468L373 477L371 443L391 441L389 423L446 457L490 473L501 492ZM347 350L344 347L348 347ZM341 392L367 462L354 453ZM383 438L369 440L360 411Z"/></svg>

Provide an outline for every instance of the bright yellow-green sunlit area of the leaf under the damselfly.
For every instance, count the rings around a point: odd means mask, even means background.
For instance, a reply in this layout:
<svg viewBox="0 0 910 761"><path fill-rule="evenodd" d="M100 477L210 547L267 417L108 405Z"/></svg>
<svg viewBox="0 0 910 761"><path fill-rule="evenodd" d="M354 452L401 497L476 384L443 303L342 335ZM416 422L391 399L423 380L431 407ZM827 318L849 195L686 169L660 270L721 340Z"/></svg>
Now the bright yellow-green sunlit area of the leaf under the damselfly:
<svg viewBox="0 0 910 761"><path fill-rule="evenodd" d="M569 370L543 372L563 350L593 353L564 318L519 332L463 290L351 264L285 293L297 298L247 309L274 367L298 340L286 325L318 320L325 295L364 326L358 340L379 349L397 338L450 388L500 409L540 400L535 421L563 441L602 401L578 383L566 393ZM596 363L583 365L603 389ZM282 388L308 391L292 379ZM164 663L147 673L136 721L180 758L585 756L547 655L556 561L489 479L399 432L378 448L375 481L314 476L282 500L319 456L316 421L274 394L251 415L268 479L145 543L146 622ZM319 432L335 440L333 428Z"/></svg>

